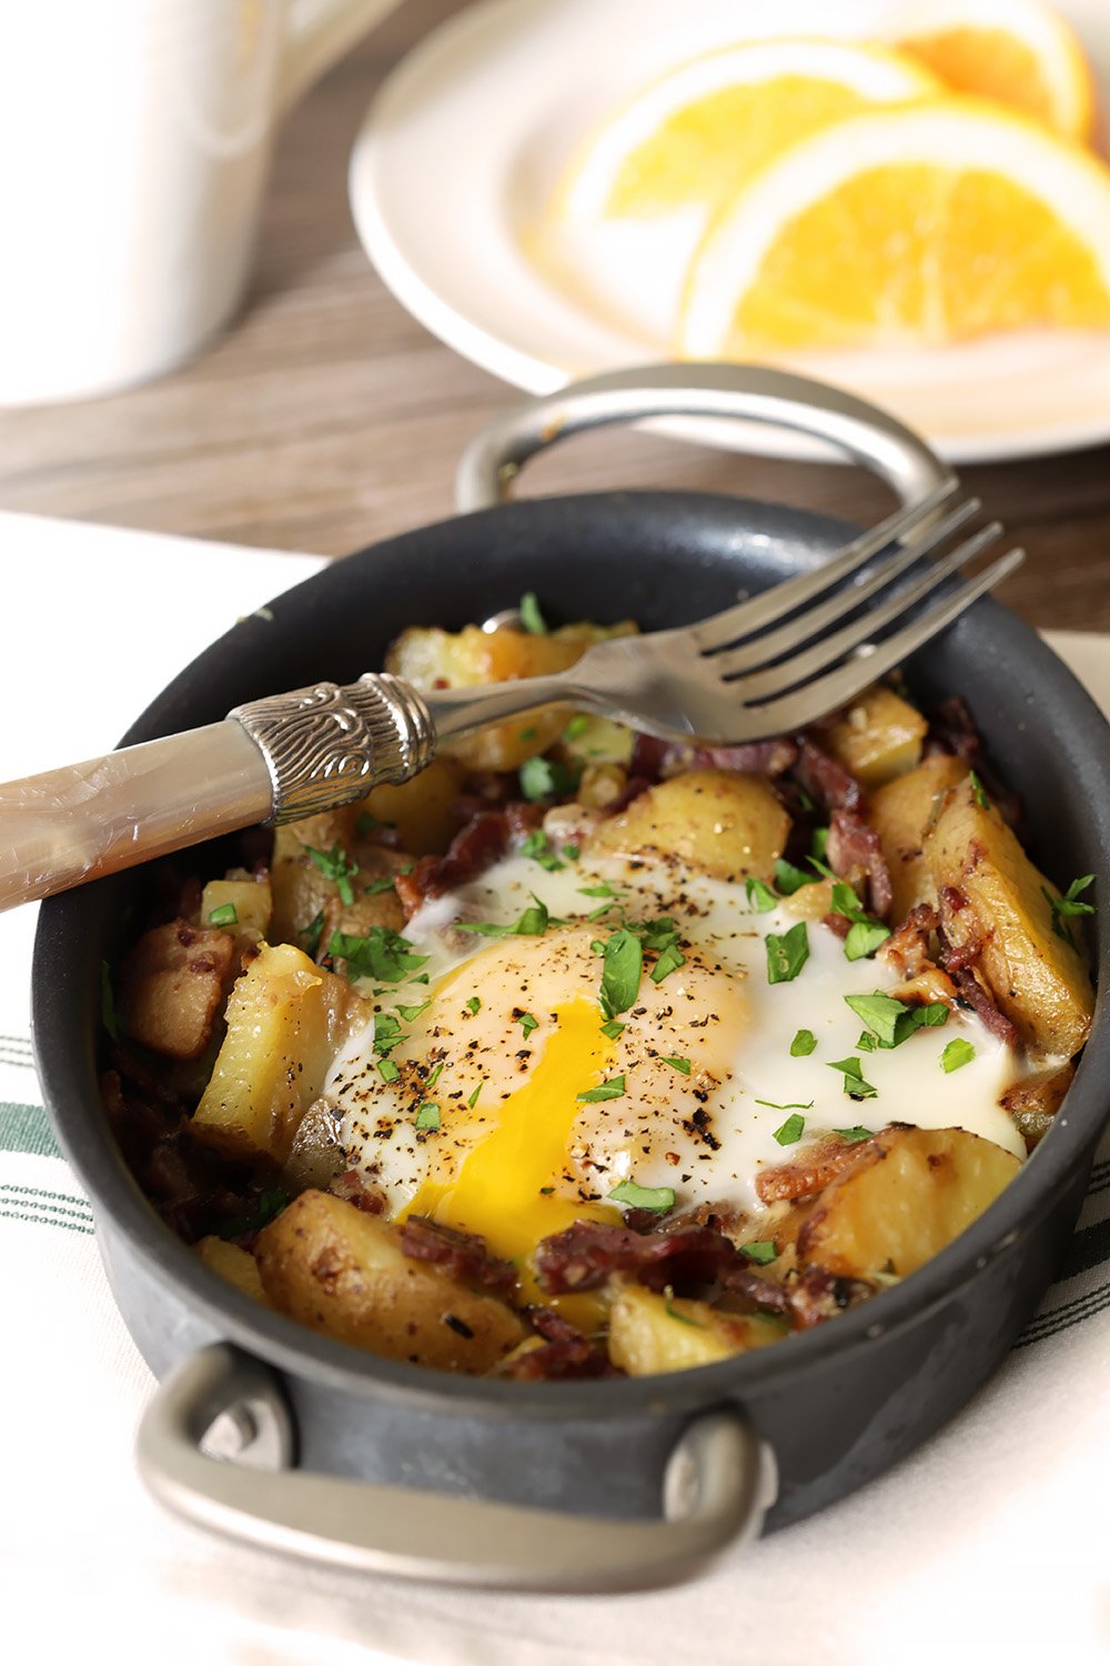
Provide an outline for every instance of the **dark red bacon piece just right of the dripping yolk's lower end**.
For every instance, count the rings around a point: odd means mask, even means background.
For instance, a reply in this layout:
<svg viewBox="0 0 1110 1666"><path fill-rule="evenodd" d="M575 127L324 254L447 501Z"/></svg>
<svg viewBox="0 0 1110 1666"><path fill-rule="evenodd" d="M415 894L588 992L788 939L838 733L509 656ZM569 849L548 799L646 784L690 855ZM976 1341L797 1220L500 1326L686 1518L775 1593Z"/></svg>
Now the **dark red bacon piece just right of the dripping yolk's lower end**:
<svg viewBox="0 0 1110 1666"><path fill-rule="evenodd" d="M632 1233L626 1226L576 1221L541 1240L536 1274L543 1289L554 1296L597 1289L611 1273L631 1273L649 1289L667 1284L679 1289L716 1283L736 1258L736 1246L711 1226Z"/></svg>

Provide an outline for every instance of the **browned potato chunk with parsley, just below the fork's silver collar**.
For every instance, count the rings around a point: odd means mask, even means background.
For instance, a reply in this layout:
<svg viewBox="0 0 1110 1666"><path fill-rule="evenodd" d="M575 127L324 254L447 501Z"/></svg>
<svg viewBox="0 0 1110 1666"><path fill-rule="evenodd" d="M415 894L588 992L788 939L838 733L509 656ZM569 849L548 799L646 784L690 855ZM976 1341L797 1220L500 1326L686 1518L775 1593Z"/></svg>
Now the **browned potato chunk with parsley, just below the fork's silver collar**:
<svg viewBox="0 0 1110 1666"><path fill-rule="evenodd" d="M359 833L359 805L343 805L303 821L290 821L275 831L270 881L273 886L273 921L270 933L275 941L305 946L313 921L321 918L320 943L328 946L333 931L364 936L369 926L386 926L399 931L404 910L393 888L368 890L389 880L408 866L408 858L386 850L373 838L373 830ZM358 865L349 876L351 903L343 901L343 891L321 870L310 851L325 858L339 848L346 865Z"/></svg>

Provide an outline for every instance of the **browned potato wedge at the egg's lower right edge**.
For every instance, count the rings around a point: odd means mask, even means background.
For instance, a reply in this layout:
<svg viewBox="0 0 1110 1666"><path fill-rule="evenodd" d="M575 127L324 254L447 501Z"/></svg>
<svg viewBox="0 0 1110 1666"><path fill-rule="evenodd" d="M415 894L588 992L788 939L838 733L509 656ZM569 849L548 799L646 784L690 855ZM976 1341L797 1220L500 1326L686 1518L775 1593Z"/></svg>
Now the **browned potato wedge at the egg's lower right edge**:
<svg viewBox="0 0 1110 1666"><path fill-rule="evenodd" d="M970 1226L1020 1166L962 1128L887 1128L825 1186L799 1233L799 1259L847 1278L905 1278Z"/></svg>

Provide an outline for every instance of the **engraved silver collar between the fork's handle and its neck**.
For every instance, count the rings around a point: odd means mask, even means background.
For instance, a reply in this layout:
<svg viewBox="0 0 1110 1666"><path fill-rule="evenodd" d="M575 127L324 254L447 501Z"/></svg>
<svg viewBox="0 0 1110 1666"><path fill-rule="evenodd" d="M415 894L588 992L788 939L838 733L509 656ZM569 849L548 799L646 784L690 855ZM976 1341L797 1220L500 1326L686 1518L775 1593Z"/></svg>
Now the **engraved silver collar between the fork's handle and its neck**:
<svg viewBox="0 0 1110 1666"><path fill-rule="evenodd" d="M436 750L423 696L384 671L248 700L228 718L266 760L273 825L349 805L381 781L408 781Z"/></svg>

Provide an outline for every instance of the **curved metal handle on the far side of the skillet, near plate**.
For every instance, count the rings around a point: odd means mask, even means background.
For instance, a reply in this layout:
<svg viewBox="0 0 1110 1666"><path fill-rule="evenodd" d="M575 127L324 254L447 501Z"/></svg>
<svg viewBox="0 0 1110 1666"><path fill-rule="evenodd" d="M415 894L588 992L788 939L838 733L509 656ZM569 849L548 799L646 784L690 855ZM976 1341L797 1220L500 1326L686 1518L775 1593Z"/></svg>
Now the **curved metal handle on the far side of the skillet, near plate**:
<svg viewBox="0 0 1110 1666"><path fill-rule="evenodd" d="M471 440L454 478L459 513L503 503L536 451L572 433L647 416L734 416L825 440L917 503L954 471L895 416L865 400L762 365L644 365L571 382L518 405Z"/></svg>

